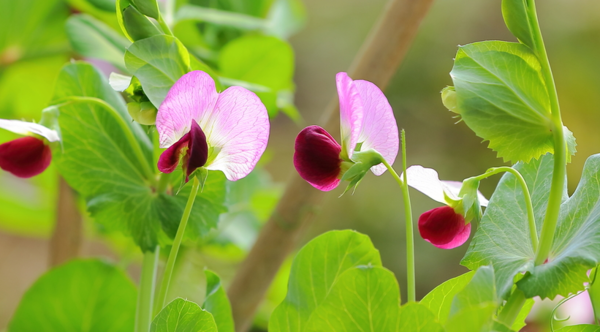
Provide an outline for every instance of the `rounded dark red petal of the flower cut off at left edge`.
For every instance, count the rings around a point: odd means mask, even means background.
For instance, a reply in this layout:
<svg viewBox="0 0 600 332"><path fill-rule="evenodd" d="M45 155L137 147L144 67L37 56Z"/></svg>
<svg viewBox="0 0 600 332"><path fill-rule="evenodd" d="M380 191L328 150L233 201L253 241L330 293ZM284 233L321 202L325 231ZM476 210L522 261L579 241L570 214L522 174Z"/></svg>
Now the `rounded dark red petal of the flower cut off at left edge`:
<svg viewBox="0 0 600 332"><path fill-rule="evenodd" d="M50 161L50 147L36 137L22 137L0 145L0 168L20 178L42 173Z"/></svg>

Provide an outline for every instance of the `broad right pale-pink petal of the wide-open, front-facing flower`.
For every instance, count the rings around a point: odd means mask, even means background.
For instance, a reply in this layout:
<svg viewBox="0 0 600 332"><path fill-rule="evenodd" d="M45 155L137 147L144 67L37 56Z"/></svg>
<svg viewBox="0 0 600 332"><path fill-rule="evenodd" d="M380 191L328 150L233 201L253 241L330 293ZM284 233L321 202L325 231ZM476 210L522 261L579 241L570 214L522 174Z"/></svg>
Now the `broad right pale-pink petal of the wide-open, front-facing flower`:
<svg viewBox="0 0 600 332"><path fill-rule="evenodd" d="M223 171L231 181L252 171L269 140L267 109L253 92L239 86L223 91L199 124L208 146L218 153L207 168Z"/></svg>

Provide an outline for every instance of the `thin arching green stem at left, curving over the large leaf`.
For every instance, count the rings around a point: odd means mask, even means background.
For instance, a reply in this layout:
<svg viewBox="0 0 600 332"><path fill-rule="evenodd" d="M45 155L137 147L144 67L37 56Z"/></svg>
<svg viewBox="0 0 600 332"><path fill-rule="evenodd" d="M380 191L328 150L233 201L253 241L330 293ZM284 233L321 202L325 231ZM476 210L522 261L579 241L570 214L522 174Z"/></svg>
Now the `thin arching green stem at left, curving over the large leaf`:
<svg viewBox="0 0 600 332"><path fill-rule="evenodd" d="M144 172L146 179L148 181L150 181L151 185L153 185L153 186L156 185L155 173L150 168L150 164L148 164L148 161L147 161L146 157L144 156L144 152L142 152L142 148L140 147L140 144L138 143L137 139L133 135L133 132L129 128L129 125L127 125L127 122L125 122L125 119L123 119L123 117L117 112L117 110L115 110L109 103L105 102L104 100L94 98L94 97L70 96L70 97L65 98L64 100L67 100L67 101L60 103L60 104L56 104L54 106L61 107L61 106L69 105L72 103L78 103L78 102L90 103L91 102L91 103L98 104L98 105L104 107L106 110L108 110L111 113L112 117L119 123L121 130L123 130L123 133L125 133L125 136L127 137L127 140L129 141L129 145L131 146L131 149L133 150L135 157L139 160L140 165L142 166L142 171Z"/></svg>

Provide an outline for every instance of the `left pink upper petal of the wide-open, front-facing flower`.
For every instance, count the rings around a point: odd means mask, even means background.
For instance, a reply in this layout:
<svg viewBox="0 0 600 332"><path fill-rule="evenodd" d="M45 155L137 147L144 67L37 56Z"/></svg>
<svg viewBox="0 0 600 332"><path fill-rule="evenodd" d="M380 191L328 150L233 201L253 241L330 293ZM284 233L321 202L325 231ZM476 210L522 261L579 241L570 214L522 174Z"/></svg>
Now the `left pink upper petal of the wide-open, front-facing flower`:
<svg viewBox="0 0 600 332"><path fill-rule="evenodd" d="M175 82L156 115L160 147L168 148L179 141L190 131L192 120L204 128L201 119L213 112L218 96L213 79L200 70Z"/></svg>

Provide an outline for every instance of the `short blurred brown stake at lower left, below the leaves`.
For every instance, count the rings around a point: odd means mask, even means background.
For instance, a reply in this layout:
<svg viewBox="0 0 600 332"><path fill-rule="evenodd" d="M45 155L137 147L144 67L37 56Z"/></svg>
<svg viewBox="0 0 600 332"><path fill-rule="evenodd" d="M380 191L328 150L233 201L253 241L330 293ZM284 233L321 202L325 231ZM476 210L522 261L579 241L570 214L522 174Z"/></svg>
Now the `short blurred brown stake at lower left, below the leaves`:
<svg viewBox="0 0 600 332"><path fill-rule="evenodd" d="M83 238L82 219L75 192L60 177L56 203L56 226L50 239L50 267L79 256Z"/></svg>

